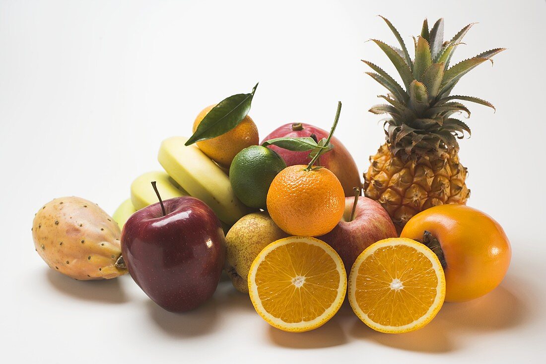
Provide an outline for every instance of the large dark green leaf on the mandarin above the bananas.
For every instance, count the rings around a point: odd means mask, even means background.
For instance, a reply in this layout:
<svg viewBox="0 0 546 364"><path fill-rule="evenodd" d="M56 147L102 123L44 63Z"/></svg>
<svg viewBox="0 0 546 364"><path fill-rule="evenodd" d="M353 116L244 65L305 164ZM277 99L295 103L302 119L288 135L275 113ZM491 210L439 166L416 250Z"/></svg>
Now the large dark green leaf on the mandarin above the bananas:
<svg viewBox="0 0 546 364"><path fill-rule="evenodd" d="M195 133L188 139L186 146L229 132L248 115L256 86L251 93L239 93L223 99L201 120Z"/></svg>

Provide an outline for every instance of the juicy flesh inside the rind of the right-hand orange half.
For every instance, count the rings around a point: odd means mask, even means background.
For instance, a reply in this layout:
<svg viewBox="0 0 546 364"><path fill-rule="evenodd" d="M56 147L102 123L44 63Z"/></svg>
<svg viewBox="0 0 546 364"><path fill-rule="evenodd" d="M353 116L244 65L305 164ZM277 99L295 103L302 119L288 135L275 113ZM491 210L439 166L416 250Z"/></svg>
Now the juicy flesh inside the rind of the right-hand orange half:
<svg viewBox="0 0 546 364"><path fill-rule="evenodd" d="M375 323L402 326L429 311L437 287L437 273L423 253L409 246L386 246L360 265L355 299Z"/></svg>

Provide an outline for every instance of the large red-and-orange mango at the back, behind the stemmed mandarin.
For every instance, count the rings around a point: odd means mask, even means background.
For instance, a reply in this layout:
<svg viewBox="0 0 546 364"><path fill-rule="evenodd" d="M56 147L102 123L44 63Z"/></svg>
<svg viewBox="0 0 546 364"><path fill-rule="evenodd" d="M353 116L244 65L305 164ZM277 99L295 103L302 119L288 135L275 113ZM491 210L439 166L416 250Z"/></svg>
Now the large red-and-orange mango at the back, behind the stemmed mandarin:
<svg viewBox="0 0 546 364"><path fill-rule="evenodd" d="M311 124L289 123L275 129L271 134L264 138L262 143L274 138L302 138L304 136L311 136L311 134L314 134L317 137L317 140L321 140L322 138L328 138L329 132L314 127ZM330 140L330 144L334 146L333 150L324 153L319 157L318 163L316 164L322 165L334 172L337 179L340 180L341 186L343 186L345 195L351 196L353 195L354 187L362 186L357 164L354 163L351 153L349 153L347 148L343 146L341 141L335 136ZM311 162L311 158L308 157L309 152L294 152L274 145L270 145L268 148L271 148L280 154L287 166L308 164Z"/></svg>

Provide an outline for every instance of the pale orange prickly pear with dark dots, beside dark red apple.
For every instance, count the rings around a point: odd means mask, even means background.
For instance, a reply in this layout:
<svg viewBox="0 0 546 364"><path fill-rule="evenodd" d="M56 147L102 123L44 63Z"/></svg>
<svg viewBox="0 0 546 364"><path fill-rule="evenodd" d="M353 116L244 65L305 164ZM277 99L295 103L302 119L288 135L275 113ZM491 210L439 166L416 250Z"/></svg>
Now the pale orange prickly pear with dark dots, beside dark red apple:
<svg viewBox="0 0 546 364"><path fill-rule="evenodd" d="M81 280L124 275L121 231L98 205L79 197L54 199L35 214L34 246L54 270ZM116 263L117 262L117 263Z"/></svg>

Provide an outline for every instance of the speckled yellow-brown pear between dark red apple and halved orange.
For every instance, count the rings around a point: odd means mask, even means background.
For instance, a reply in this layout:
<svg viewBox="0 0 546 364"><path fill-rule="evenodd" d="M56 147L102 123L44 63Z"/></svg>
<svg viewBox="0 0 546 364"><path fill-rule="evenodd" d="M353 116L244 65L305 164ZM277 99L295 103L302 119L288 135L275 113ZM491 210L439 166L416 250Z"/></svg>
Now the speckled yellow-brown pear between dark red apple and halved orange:
<svg viewBox="0 0 546 364"><path fill-rule="evenodd" d="M229 229L225 236L225 272L238 291L248 293L248 271L262 249L287 236L267 212L243 216Z"/></svg>

